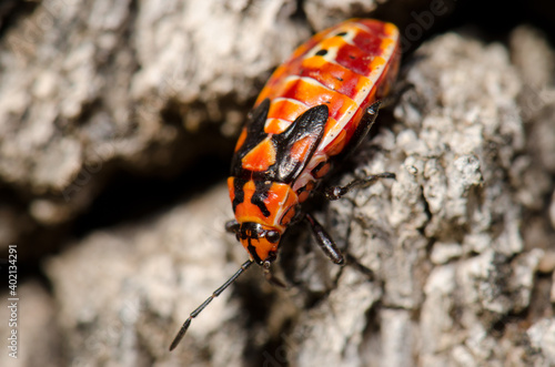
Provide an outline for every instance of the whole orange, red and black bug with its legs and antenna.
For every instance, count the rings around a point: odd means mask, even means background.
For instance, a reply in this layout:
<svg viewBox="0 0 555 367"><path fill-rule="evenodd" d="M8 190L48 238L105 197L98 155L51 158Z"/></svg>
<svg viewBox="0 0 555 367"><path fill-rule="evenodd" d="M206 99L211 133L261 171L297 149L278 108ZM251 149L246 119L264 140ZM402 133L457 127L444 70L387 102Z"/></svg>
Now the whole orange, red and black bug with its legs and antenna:
<svg viewBox="0 0 555 367"><path fill-rule="evenodd" d="M332 165L365 137L400 61L398 30L391 23L353 19L315 34L279 67L260 93L235 146L228 180L235 233L249 261L199 306L192 318L252 263L268 272L289 225L306 220L319 245L336 264L344 258L301 204ZM353 186L391 173L356 180L325 192L339 198Z"/></svg>

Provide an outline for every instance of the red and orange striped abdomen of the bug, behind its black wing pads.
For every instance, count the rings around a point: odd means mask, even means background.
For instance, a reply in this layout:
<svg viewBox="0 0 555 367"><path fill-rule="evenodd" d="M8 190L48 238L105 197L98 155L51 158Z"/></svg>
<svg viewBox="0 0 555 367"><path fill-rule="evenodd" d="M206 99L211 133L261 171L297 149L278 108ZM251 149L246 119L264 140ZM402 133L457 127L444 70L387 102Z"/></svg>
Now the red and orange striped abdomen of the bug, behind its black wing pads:
<svg viewBox="0 0 555 367"><path fill-rule="evenodd" d="M365 109L387 93L398 68L398 30L354 19L314 35L278 68L255 105L270 99L266 133L283 132L307 109L326 104L330 119L315 153L341 153Z"/></svg>

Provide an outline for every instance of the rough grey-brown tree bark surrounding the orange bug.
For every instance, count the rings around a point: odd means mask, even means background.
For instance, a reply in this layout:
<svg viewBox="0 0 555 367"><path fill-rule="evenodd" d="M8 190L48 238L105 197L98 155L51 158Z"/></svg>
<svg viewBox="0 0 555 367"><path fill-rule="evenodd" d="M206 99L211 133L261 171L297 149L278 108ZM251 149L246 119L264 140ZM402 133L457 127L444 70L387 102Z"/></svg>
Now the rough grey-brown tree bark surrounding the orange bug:
<svg viewBox="0 0 555 367"><path fill-rule="evenodd" d="M331 264L300 226L275 269L289 289L250 269L171 354L180 324L246 258L223 231L224 182L65 237L58 254L38 248L38 235L63 237L114 172L180 172L232 142L309 23L380 8L301 4L305 16L286 0L52 0L10 19L0 40L0 245L48 254L40 265L52 289L37 274L20 283L17 363L555 365L555 51L531 26L506 44L450 30L405 54L398 101L336 182L384 171L396 180L315 212L354 264ZM421 41L404 32L411 24L400 23L405 48Z"/></svg>

